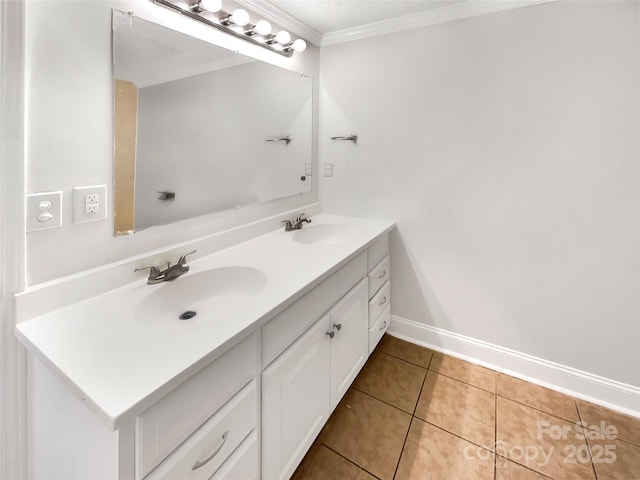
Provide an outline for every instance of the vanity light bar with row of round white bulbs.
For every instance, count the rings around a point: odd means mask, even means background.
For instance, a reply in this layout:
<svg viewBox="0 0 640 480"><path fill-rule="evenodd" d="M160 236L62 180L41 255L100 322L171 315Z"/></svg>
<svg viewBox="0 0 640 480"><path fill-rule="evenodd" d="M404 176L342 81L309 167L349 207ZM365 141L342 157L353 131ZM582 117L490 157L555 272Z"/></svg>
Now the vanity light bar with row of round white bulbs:
<svg viewBox="0 0 640 480"><path fill-rule="evenodd" d="M286 30L272 34L271 24L266 20L259 20L252 25L246 10L238 8L231 13L225 12L222 10L221 0L153 0L153 2L285 57L292 56L293 52L304 52L307 48L307 42L301 38L291 41L291 34Z"/></svg>

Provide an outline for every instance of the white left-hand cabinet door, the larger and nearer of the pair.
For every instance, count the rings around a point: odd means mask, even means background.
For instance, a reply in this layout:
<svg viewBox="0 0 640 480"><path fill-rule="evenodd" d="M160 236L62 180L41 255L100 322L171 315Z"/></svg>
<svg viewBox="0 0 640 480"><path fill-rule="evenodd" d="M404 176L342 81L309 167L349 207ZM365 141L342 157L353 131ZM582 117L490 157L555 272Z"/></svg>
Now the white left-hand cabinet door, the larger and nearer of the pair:
<svg viewBox="0 0 640 480"><path fill-rule="evenodd" d="M288 479L329 417L328 323L325 315L262 373L263 480Z"/></svg>

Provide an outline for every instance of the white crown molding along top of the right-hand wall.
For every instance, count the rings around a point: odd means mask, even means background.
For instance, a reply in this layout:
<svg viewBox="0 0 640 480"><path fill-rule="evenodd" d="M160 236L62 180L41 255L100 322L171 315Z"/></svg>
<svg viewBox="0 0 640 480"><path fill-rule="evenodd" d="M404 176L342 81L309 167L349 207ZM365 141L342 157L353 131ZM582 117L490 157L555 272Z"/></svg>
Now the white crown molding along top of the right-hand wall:
<svg viewBox="0 0 640 480"><path fill-rule="evenodd" d="M556 0L466 0L448 7L436 8L425 12L329 32L322 36L320 46L335 45L337 43L554 1Z"/></svg>

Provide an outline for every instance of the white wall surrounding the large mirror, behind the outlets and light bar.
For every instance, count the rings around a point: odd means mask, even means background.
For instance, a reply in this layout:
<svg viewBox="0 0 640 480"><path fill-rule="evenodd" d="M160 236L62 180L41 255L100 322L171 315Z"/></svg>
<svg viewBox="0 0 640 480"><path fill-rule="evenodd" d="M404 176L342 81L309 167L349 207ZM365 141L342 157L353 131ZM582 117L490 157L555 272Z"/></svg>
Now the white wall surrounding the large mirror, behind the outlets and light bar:
<svg viewBox="0 0 640 480"><path fill-rule="evenodd" d="M287 59L150 1L30 1L26 11L26 190L62 190L63 226L27 234L27 282L63 275L307 205L317 193L113 237L113 218L73 224L75 186L108 185L112 211L111 8L188 32L317 79L318 49ZM314 118L314 125L317 119ZM314 138L314 141L315 138ZM314 189L316 190L316 189Z"/></svg>

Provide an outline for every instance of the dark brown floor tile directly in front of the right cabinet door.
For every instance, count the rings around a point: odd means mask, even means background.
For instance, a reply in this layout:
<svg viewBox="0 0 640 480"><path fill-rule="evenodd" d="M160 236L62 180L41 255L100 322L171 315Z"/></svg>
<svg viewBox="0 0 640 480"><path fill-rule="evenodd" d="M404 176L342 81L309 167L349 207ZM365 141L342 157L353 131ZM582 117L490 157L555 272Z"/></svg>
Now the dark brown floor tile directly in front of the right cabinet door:
<svg viewBox="0 0 640 480"><path fill-rule="evenodd" d="M413 414L427 369L374 352L356 378L353 388Z"/></svg>

